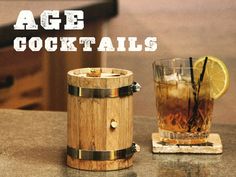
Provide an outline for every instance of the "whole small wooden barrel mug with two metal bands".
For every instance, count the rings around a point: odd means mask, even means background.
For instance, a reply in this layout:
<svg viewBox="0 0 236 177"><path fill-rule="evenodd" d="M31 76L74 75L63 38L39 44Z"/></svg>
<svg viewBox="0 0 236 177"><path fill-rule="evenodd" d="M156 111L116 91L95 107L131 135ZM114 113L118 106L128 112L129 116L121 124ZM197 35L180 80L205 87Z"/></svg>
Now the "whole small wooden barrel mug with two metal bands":
<svg viewBox="0 0 236 177"><path fill-rule="evenodd" d="M114 68L68 72L68 145L70 167L106 171L128 168L133 143L133 73Z"/></svg>

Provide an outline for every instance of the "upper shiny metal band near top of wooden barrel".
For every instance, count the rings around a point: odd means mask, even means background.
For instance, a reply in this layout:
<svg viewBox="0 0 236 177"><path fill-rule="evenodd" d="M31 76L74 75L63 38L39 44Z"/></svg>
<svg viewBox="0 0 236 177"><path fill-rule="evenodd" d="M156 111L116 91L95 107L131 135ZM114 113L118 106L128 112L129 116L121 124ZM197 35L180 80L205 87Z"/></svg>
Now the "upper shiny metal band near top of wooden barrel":
<svg viewBox="0 0 236 177"><path fill-rule="evenodd" d="M70 95L85 97L85 98L115 98L133 95L134 92L140 91L141 86L134 82L131 85L114 88L114 89L94 89L81 88L73 85L68 85L68 93Z"/></svg>

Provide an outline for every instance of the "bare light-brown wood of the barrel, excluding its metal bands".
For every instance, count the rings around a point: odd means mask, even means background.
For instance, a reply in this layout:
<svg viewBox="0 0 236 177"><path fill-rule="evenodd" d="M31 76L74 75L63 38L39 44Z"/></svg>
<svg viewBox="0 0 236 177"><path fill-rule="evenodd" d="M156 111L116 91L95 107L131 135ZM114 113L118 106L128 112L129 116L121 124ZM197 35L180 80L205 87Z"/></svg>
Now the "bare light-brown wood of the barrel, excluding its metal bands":
<svg viewBox="0 0 236 177"><path fill-rule="evenodd" d="M119 88L131 85L133 74L127 70L102 69L121 76L79 77L86 69L72 70L68 73L68 84L83 88ZM111 128L114 119L118 126ZM68 95L68 146L84 150L119 150L129 148L133 142L133 98L82 98ZM67 156L70 167L106 171L127 168L132 165L132 158L92 161L78 160Z"/></svg>

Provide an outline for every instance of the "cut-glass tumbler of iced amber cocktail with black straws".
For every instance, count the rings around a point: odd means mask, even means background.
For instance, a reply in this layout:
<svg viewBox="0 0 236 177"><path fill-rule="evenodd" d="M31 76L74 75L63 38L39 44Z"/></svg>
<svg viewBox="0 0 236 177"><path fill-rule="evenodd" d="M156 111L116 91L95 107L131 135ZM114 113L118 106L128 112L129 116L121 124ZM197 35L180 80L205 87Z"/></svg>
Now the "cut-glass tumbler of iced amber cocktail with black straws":
<svg viewBox="0 0 236 177"><path fill-rule="evenodd" d="M162 59L153 63L153 76L161 141L206 143L213 112L207 70L189 59Z"/></svg>

